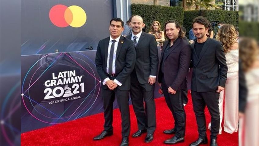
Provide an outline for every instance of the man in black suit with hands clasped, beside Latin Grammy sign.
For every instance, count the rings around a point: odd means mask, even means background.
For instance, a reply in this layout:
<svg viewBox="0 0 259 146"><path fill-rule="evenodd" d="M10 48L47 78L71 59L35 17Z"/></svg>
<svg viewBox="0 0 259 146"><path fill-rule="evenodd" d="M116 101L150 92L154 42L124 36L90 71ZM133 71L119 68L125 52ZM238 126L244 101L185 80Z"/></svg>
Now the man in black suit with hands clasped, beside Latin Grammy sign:
<svg viewBox="0 0 259 146"><path fill-rule="evenodd" d="M104 131L93 140L100 140L113 134L113 101L117 98L122 118L122 143L129 145L130 110L129 90L130 73L134 69L136 52L133 42L121 36L123 21L113 18L110 21L111 36L100 40L96 52L96 68L102 81L102 98L104 103Z"/></svg>

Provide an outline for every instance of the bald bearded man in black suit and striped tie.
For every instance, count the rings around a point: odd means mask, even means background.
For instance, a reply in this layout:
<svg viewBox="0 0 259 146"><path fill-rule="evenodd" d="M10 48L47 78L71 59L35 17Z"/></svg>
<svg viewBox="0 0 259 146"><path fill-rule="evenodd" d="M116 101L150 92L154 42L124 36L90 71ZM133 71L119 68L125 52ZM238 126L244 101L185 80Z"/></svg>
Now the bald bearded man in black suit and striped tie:
<svg viewBox="0 0 259 146"><path fill-rule="evenodd" d="M145 142L151 142L156 128L154 89L158 68L158 51L155 37L142 31L144 26L140 16L131 19L132 34L127 36L133 41L136 50L136 65L131 73L130 97L138 123L138 131L132 137L147 132ZM145 101L145 108L143 105Z"/></svg>

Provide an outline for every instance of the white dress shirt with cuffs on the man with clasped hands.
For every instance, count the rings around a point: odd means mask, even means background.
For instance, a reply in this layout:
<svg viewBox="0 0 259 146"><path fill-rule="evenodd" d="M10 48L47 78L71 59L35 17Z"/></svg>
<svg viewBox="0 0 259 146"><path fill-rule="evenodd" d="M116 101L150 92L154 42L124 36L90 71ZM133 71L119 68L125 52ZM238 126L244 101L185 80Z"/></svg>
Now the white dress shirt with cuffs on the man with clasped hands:
<svg viewBox="0 0 259 146"><path fill-rule="evenodd" d="M120 37L119 36L118 38L116 39L112 39L111 36L110 36L110 41L109 41L109 46L108 46L108 58L107 58L107 67L106 67L106 73L109 74L109 61L110 61L110 52L111 52L111 44L112 44L112 40L116 40L116 42L114 43L114 51L113 51L113 59L112 59L112 73L115 74L115 62L116 62L116 53L117 53L117 48L118 48L118 44L119 44L119 40L120 40ZM104 79L103 81L103 85L106 84L106 82L110 80L110 78L106 78ZM113 80L116 84L118 84L119 86L122 85L122 83L120 83L118 80L114 79Z"/></svg>

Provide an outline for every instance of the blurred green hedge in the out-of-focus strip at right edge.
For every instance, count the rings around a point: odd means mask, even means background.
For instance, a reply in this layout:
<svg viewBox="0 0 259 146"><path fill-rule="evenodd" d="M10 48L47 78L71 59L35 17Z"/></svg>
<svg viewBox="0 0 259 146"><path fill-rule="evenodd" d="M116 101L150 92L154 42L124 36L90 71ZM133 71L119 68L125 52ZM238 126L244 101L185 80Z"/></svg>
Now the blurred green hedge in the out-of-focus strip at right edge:
<svg viewBox="0 0 259 146"><path fill-rule="evenodd" d="M239 36L246 36L259 40L259 23L239 21Z"/></svg>

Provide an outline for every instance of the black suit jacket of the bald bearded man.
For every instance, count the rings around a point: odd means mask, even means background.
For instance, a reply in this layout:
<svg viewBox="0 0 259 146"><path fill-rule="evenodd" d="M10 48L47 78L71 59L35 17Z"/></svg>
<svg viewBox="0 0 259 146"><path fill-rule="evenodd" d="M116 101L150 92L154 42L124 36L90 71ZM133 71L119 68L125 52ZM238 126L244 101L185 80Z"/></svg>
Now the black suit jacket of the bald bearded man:
<svg viewBox="0 0 259 146"><path fill-rule="evenodd" d="M131 39L131 36L132 34L126 38ZM149 75L157 75L158 51L155 36L143 31L136 47L135 69L140 84L148 83Z"/></svg>

